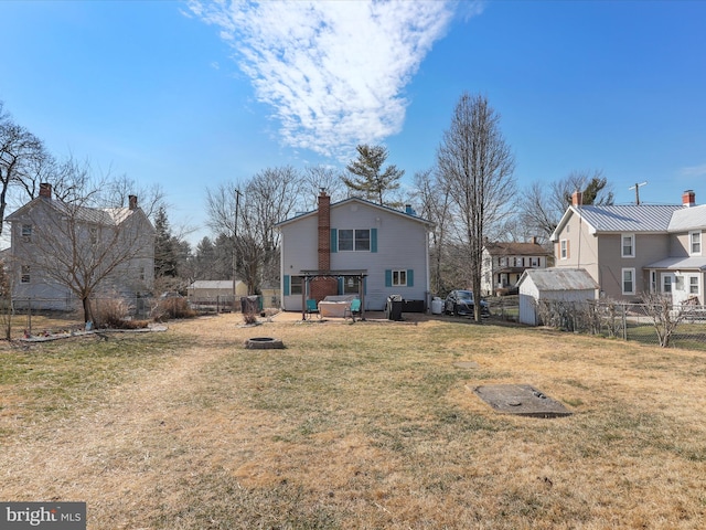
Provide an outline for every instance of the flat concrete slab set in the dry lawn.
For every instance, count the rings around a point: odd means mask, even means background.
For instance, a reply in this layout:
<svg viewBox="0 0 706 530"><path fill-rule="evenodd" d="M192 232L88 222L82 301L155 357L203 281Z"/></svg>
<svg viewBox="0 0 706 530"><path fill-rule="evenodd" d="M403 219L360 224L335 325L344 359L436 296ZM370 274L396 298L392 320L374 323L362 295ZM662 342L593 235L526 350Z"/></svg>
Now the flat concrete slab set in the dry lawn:
<svg viewBox="0 0 706 530"><path fill-rule="evenodd" d="M533 417L570 416L561 403L528 384L488 384L473 392L495 411Z"/></svg>

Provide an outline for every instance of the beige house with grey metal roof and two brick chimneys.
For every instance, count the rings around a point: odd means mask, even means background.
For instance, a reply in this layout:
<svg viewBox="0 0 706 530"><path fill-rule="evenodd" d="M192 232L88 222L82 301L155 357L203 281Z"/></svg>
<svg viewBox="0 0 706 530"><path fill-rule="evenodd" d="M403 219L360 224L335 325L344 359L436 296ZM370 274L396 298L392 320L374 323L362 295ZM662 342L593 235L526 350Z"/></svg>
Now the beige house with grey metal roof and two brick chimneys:
<svg viewBox="0 0 706 530"><path fill-rule="evenodd" d="M555 266L585 268L600 296L638 301L666 293L674 304L704 305L706 205L687 190L682 204L581 205L574 193L552 241Z"/></svg>

